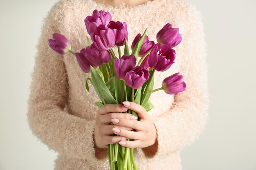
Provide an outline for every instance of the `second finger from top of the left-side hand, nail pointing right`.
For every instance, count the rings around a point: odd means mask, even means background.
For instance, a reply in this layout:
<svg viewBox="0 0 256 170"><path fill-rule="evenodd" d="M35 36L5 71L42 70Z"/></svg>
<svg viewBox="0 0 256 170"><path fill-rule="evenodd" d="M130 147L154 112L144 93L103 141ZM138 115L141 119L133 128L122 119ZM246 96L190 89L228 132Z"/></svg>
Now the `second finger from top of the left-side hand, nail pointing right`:
<svg viewBox="0 0 256 170"><path fill-rule="evenodd" d="M101 115L99 117L99 123L101 124L108 124L110 123L110 119L113 119L113 118L116 118L116 117L119 117L119 118L124 118L124 119L133 119L135 120L136 117L133 116L132 114L130 113L108 113L108 114L105 114L105 115Z"/></svg>

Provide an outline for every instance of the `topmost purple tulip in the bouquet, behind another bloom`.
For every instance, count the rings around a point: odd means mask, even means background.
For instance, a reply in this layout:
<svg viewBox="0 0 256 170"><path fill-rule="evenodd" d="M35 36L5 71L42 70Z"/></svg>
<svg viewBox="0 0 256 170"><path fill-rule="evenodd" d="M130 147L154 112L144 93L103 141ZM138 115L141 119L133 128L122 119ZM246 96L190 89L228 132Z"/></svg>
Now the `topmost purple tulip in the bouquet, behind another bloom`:
<svg viewBox="0 0 256 170"><path fill-rule="evenodd" d="M89 15L84 20L87 32L91 35L97 26L100 24L108 25L111 19L112 17L109 12L95 9L92 12L92 16Z"/></svg>

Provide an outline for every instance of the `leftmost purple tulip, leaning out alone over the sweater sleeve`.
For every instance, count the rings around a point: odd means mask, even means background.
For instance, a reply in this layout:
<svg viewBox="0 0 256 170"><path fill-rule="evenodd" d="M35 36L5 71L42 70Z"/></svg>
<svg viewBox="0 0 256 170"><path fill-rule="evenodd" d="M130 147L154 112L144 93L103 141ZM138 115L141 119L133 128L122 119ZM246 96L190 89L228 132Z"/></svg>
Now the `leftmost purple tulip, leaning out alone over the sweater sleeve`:
<svg viewBox="0 0 256 170"><path fill-rule="evenodd" d="M59 54L65 54L69 50L71 50L71 45L69 40L64 35L61 35L59 33L52 34L52 39L48 40L48 45L57 53Z"/></svg>

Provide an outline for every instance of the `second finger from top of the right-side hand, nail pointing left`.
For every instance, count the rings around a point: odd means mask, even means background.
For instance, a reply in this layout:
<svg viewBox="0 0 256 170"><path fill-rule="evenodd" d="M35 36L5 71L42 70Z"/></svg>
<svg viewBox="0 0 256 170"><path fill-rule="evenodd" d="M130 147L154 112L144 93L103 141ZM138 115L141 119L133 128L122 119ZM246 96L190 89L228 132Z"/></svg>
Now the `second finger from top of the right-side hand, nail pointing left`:
<svg viewBox="0 0 256 170"><path fill-rule="evenodd" d="M119 126L126 126L126 127L133 128L136 130L143 129L143 122L138 121L138 120L124 119L124 118L113 118L113 119L110 119L110 121L113 124L116 124Z"/></svg>

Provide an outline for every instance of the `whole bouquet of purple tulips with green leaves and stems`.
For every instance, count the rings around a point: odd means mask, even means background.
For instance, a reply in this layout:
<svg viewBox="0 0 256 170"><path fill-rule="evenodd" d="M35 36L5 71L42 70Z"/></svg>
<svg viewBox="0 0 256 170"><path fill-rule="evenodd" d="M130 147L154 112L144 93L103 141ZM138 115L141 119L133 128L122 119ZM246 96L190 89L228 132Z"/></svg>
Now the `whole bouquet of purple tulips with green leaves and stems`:
<svg viewBox="0 0 256 170"><path fill-rule="evenodd" d="M49 46L59 54L72 53L85 73L90 73L85 81L89 92L88 80L92 83L101 102L95 102L99 107L105 104L122 104L125 101L135 102L147 111L154 106L149 101L151 93L164 90L167 94L177 94L186 88L183 76L175 73L166 77L162 87L153 90L155 71L166 71L175 60L175 50L182 37L179 29L167 23L157 33L157 43L148 40L147 29L134 38L131 49L128 49L128 31L126 22L113 21L109 12L95 9L91 16L84 20L91 41L87 37L87 47L80 52L71 49L69 40L59 33L49 39ZM124 55L120 46L124 46ZM113 48L117 47L118 57ZM137 57L141 57L137 66ZM133 110L127 110L139 117ZM112 124L112 123L111 123ZM115 135L115 134L112 134ZM132 139L127 139L132 140ZM133 158L133 148L119 144L108 145L108 157L111 170L137 170Z"/></svg>

